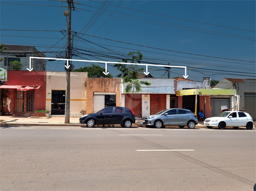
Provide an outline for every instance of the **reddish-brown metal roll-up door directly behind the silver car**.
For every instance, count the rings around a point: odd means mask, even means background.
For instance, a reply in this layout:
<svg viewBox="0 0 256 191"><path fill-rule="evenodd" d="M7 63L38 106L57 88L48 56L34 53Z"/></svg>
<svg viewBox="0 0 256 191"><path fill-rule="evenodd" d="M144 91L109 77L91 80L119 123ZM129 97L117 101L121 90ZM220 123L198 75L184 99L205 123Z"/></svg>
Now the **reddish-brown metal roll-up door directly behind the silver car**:
<svg viewBox="0 0 256 191"><path fill-rule="evenodd" d="M150 94L150 115L166 109L166 94Z"/></svg>

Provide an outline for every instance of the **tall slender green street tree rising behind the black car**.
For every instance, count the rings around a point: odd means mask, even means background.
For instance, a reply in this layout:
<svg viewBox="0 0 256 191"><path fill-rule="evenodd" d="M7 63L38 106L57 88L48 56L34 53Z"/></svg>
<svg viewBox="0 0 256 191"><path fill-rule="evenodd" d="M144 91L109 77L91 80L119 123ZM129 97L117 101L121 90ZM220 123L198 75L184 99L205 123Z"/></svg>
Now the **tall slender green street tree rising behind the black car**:
<svg viewBox="0 0 256 191"><path fill-rule="evenodd" d="M142 60L142 54L137 51L137 52L129 52L128 56L130 58L123 58L122 62L124 63L141 63ZM128 65L128 64L114 64L114 67L116 67L117 70L121 71L122 73L117 75L116 77L122 78L122 84L128 83L126 86L126 89L124 89L125 93L129 93L133 89L132 97L130 98L130 102L132 101L133 94L134 94L134 89L135 93L141 91L142 84L145 85L151 85L151 83L147 81L141 81L139 80L139 74L143 72L143 68L139 68L136 65ZM130 102L129 106L130 107Z"/></svg>

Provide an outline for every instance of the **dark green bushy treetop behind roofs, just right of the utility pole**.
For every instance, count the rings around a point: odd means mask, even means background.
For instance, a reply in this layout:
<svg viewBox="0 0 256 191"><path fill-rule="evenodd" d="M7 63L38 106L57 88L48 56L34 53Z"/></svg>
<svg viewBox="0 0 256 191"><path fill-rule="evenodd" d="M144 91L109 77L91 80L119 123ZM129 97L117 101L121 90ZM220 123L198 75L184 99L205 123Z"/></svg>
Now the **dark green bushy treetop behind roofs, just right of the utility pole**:
<svg viewBox="0 0 256 191"><path fill-rule="evenodd" d="M95 64L92 64L91 67L74 69L74 72L88 72L89 78L113 78L110 74L103 74L103 72L105 72L105 68L101 68L99 65Z"/></svg>

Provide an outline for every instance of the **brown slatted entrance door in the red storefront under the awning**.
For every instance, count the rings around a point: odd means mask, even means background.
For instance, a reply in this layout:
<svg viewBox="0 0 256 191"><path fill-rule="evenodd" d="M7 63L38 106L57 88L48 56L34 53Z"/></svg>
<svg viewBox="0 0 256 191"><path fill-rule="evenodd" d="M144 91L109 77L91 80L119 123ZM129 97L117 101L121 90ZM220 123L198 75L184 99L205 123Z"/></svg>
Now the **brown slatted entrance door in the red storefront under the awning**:
<svg viewBox="0 0 256 191"><path fill-rule="evenodd" d="M16 112L34 112L34 91L17 91Z"/></svg>

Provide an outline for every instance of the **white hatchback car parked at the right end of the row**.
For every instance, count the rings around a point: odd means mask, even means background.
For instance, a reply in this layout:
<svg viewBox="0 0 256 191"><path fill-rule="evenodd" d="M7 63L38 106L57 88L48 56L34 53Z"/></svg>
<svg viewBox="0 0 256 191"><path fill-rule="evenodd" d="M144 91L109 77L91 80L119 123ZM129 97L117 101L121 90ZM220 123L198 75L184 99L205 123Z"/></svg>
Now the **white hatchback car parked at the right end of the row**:
<svg viewBox="0 0 256 191"><path fill-rule="evenodd" d="M212 127L225 129L226 126L231 126L234 129L237 129L238 127L253 129L253 120L247 112L227 111L218 114L216 117L209 117L205 119L204 125L209 129Z"/></svg>

